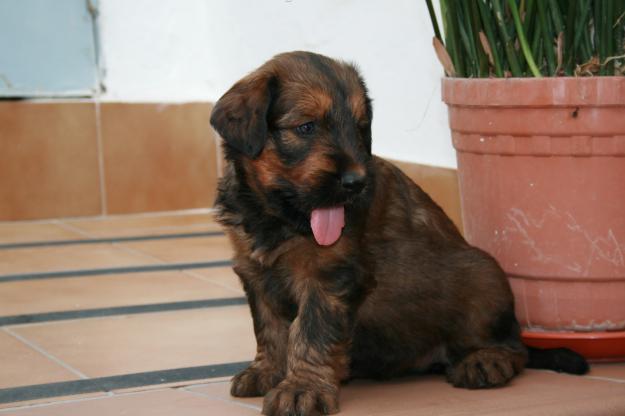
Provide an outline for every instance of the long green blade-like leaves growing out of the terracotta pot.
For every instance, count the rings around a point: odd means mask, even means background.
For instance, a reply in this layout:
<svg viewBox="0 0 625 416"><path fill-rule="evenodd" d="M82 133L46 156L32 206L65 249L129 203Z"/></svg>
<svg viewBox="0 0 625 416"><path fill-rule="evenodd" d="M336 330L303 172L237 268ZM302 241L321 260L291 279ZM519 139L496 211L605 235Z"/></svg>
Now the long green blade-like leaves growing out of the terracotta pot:
<svg viewBox="0 0 625 416"><path fill-rule="evenodd" d="M449 76L625 75L625 0L426 2Z"/></svg>

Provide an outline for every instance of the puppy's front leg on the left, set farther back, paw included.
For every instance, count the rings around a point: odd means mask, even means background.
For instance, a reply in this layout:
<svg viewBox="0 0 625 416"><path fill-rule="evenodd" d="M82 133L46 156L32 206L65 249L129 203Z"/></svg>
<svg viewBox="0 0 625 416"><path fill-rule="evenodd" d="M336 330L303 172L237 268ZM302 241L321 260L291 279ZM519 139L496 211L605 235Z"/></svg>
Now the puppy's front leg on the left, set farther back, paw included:
<svg viewBox="0 0 625 416"><path fill-rule="evenodd" d="M256 357L247 369L232 379L230 394L236 397L264 396L285 377L289 322L273 311L250 280L241 278L254 321Z"/></svg>

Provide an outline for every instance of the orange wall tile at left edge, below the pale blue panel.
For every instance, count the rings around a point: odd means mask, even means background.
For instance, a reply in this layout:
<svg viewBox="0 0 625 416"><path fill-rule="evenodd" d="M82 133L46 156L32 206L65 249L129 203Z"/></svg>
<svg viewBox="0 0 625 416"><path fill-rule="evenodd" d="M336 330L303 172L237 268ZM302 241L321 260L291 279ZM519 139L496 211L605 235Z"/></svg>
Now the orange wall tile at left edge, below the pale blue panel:
<svg viewBox="0 0 625 416"><path fill-rule="evenodd" d="M0 102L0 220L97 215L93 103Z"/></svg>

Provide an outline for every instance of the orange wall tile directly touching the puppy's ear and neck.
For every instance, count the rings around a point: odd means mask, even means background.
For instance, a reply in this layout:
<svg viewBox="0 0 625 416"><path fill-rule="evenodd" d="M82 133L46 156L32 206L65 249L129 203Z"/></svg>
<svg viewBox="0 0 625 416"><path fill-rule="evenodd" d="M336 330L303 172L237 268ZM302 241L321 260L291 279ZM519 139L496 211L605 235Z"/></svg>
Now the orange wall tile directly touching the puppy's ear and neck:
<svg viewBox="0 0 625 416"><path fill-rule="evenodd" d="M215 137L208 103L104 103L102 146L107 213L213 205Z"/></svg>

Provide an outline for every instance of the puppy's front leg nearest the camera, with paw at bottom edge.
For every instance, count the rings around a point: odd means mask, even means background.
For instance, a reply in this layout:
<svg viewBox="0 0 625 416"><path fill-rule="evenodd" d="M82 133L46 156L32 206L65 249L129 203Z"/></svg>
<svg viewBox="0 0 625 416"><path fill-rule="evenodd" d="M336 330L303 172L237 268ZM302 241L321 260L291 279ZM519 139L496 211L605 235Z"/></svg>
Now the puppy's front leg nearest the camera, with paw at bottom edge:
<svg viewBox="0 0 625 416"><path fill-rule="evenodd" d="M314 283L304 289L289 331L287 377L265 396L263 414L338 412L339 383L349 368L352 307Z"/></svg>

